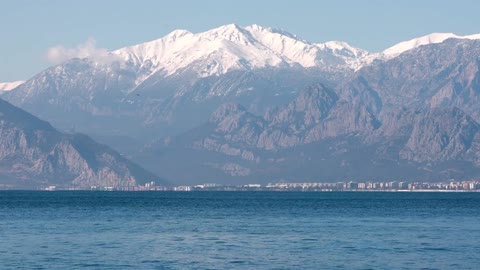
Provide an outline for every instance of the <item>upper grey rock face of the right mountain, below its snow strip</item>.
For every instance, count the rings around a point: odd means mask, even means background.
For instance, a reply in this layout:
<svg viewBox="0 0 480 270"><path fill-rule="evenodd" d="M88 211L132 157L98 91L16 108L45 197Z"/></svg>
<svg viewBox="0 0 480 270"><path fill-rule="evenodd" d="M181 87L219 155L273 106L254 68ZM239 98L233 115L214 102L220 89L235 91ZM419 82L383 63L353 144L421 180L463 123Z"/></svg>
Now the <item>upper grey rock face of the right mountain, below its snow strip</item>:
<svg viewBox="0 0 480 270"><path fill-rule="evenodd" d="M360 69L339 91L372 112L457 107L479 121L480 41L448 39Z"/></svg>

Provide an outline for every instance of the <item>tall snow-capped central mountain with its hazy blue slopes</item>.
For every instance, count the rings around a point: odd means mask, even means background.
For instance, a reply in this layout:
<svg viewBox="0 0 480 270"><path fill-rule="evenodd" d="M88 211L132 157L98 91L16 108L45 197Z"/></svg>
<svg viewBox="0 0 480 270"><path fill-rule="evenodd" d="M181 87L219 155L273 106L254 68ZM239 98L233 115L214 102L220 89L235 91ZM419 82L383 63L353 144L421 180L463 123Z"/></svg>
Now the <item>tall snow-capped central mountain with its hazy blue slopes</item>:
<svg viewBox="0 0 480 270"><path fill-rule="evenodd" d="M51 67L4 98L64 130L158 136L201 124L225 102L264 113L310 83L338 83L367 55L344 42L315 44L258 25L177 30Z"/></svg>

